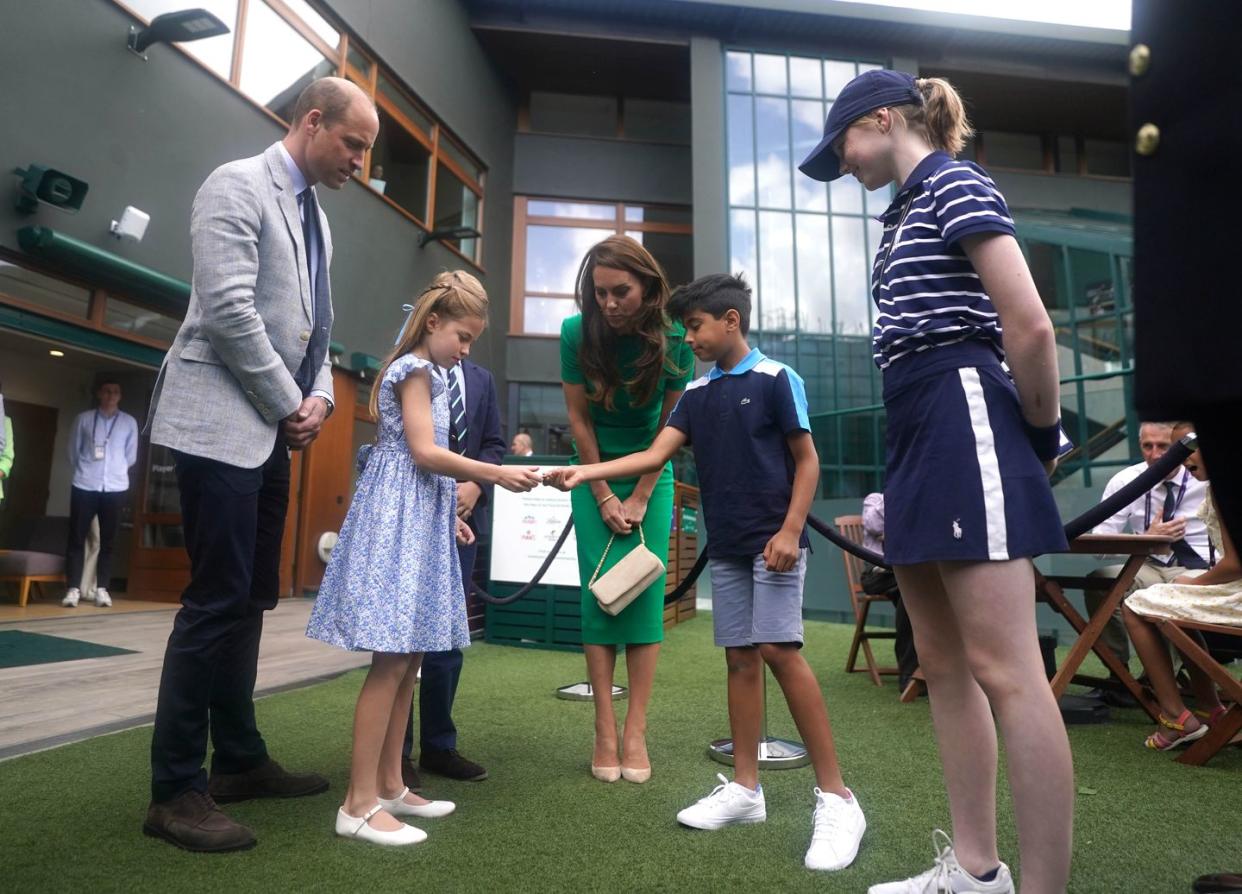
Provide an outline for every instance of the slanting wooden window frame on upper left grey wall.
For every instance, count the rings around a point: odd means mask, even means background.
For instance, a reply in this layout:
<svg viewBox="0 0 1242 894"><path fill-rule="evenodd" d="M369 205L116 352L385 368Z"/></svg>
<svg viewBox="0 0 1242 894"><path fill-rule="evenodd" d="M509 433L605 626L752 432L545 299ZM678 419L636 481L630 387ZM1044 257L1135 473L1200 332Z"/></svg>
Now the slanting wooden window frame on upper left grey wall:
<svg viewBox="0 0 1242 894"><path fill-rule="evenodd" d="M474 267L482 273L486 273L483 267L483 221L486 210L486 184L487 184L487 165L483 164L482 159L478 158L476 153L469 150L466 144L452 134L448 128L443 125L440 118L431 113L425 103L422 103L411 91L401 78L392 72L391 68L385 67L380 61L379 56L370 51L363 41L360 41L348 27L345 27L340 19L329 9L324 9L315 0L306 0L307 5L314 10L317 15L323 17L324 21L332 25L340 35L340 40L335 47L329 45L323 37L320 37L313 27L310 27L306 21L303 21L283 0L237 0L237 16L235 21L226 22L233 35L232 55L229 67L229 77L221 76L219 72L210 68L205 62L202 62L197 56L191 53L185 46L180 43L173 43L173 48L180 52L188 60L194 62L204 71L206 71L211 77L221 81L230 86L241 98L247 103L253 106L261 113L267 115L273 123L278 124L283 129L288 129L289 123L281 118L278 114L268 109L266 106L247 96L241 89L241 70L242 70L242 55L245 52L246 45L246 22L252 4L265 4L268 10L276 14L286 25L292 27L299 37L309 42L315 50L323 53L324 58L335 66L335 74L338 77L348 78L355 84L363 88L368 97L371 98L376 106L384 108L385 114L390 115L397 124L401 125L402 130L409 133L424 145L430 153L427 168L427 206L422 210L425 219L419 214L405 209L396 201L384 195L379 190L371 187L368 183L370 179L371 170L371 151L368 150L363 161L363 170L354 175L354 180L363 186L369 194L378 197L380 201L389 205L397 214L404 216L406 220L412 222L420 230L430 232L432 230L432 221L436 219L435 214L435 199L436 199L436 173L438 165L443 165L448 169L455 178L457 178L463 186L471 190L478 197L478 222L476 230L478 230L479 236L474 242L474 257L466 255L455 246L441 242L441 245L457 255L462 261ZM112 4L119 7L123 12L132 16L140 25L149 25L149 20L140 15L137 10L129 6L125 0L112 0ZM355 55L361 56L368 62L368 71L363 72L356 68L349 56L350 50ZM430 133L416 122L411 120L395 103L392 103L386 96L379 92L379 76L384 74L388 83L395 88L401 97L409 102L414 108L419 109L427 120L431 122ZM453 148L461 153L465 158L473 160L478 168L478 176L468 174L446 150L440 148L441 139L452 143Z"/></svg>

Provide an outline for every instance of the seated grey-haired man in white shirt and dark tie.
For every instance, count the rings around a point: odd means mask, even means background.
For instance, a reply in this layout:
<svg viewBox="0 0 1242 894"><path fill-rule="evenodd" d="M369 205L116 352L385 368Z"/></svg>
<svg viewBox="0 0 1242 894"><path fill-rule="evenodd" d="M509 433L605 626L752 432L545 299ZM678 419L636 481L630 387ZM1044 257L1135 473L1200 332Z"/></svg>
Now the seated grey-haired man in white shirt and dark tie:
<svg viewBox="0 0 1242 894"><path fill-rule="evenodd" d="M1143 452L1143 462L1129 466L1113 476L1113 479L1104 488L1102 499L1108 499L1138 478L1171 446L1172 426L1170 423L1144 422L1140 425L1139 448ZM1172 581L1189 569L1208 567L1211 548L1207 540L1207 528L1196 514L1203 502L1205 493L1205 484L1177 466L1155 488L1095 526L1094 534L1122 534L1129 528L1131 534L1166 534L1177 538L1171 551L1148 558L1134 579L1131 592L1153 584ZM1120 565L1109 565L1093 572L1092 576L1112 580L1120 572ZM1094 613L1107 595L1107 590L1088 590L1086 592L1088 611ZM1125 637L1125 627L1122 623L1120 606L1109 618L1102 638L1123 662L1129 661L1130 647Z"/></svg>

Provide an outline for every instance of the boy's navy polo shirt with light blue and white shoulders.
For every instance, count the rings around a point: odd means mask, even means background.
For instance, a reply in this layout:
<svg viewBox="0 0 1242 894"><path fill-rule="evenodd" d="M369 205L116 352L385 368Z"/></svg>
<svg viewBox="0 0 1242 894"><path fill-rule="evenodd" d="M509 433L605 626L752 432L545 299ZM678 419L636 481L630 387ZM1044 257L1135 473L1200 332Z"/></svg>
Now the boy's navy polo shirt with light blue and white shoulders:
<svg viewBox="0 0 1242 894"><path fill-rule="evenodd" d="M668 425L694 448L708 556L761 554L794 494L785 438L811 431L802 377L751 349L732 370L713 366L687 385ZM805 528L799 544L810 545Z"/></svg>

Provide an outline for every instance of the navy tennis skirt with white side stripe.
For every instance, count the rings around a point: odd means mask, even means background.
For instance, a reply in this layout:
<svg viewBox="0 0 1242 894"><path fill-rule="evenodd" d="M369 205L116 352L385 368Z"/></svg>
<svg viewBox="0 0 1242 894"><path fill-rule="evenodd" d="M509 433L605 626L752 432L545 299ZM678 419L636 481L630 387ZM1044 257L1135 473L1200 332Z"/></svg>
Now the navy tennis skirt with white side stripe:
<svg viewBox="0 0 1242 894"><path fill-rule="evenodd" d="M991 348L963 343L884 370L884 558L892 565L1062 553L1052 487Z"/></svg>

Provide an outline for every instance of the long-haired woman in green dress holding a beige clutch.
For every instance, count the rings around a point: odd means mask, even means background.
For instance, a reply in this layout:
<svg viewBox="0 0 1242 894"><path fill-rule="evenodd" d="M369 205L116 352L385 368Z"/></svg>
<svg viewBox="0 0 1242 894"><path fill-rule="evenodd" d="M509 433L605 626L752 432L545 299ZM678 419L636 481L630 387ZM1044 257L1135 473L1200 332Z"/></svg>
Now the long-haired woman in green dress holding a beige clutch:
<svg viewBox="0 0 1242 894"><path fill-rule="evenodd" d="M668 320L667 303L663 269L628 236L610 236L582 260L578 271L582 313L560 329L560 377L575 462L646 449L668 420L693 372L694 355L684 343L686 330ZM667 562L673 469L594 482L574 489L571 499L582 581L582 644L595 697L591 774L604 782L621 776L646 782L651 777L647 703L664 638L664 575L616 617L600 611L589 584L610 539L616 535L600 574L640 541L638 525L647 549ZM630 677L630 709L620 741L612 710L617 646L626 647Z"/></svg>

